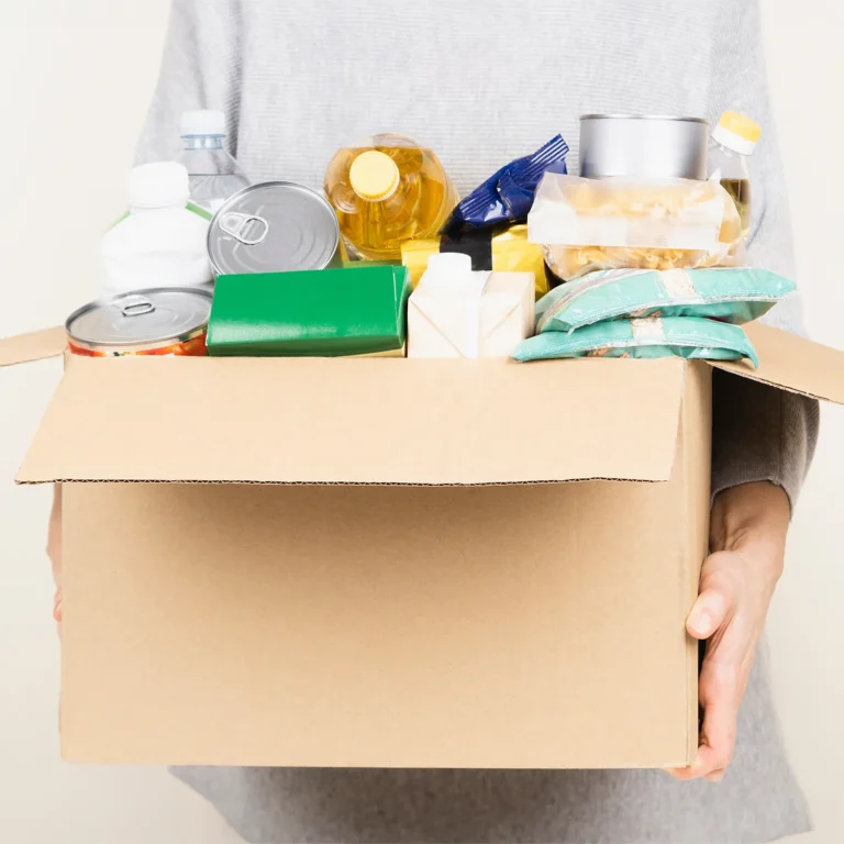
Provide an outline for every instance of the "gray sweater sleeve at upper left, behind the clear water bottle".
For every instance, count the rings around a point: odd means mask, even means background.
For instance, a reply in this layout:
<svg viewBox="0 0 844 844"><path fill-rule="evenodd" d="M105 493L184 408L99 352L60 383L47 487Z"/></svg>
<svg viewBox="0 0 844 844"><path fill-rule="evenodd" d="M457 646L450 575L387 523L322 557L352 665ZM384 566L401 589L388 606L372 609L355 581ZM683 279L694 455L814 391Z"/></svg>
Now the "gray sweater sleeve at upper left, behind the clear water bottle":
<svg viewBox="0 0 844 844"><path fill-rule="evenodd" d="M237 154L241 104L241 0L173 0L153 102L136 163L179 157L181 113L225 112L229 146Z"/></svg>

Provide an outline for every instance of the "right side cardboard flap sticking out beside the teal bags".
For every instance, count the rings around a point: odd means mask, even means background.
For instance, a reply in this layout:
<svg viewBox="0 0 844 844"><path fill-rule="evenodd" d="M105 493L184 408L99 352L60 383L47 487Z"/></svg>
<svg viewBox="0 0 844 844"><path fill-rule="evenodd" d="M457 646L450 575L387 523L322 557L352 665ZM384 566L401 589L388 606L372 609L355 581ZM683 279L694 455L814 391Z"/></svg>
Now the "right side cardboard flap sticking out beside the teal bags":
<svg viewBox="0 0 844 844"><path fill-rule="evenodd" d="M789 392L844 404L844 352L760 322L745 329L759 354L758 369L747 362L712 362L712 366Z"/></svg>

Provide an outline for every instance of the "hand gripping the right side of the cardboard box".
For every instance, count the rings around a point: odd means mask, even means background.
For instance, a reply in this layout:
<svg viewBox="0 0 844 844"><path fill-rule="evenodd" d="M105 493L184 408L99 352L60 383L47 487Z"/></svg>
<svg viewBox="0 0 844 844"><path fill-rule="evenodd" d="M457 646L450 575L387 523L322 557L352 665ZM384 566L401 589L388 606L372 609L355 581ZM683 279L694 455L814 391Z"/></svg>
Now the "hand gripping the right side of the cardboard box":
<svg viewBox="0 0 844 844"><path fill-rule="evenodd" d="M773 484L745 484L715 500L711 553L686 623L690 635L707 640L700 748L693 765L670 771L678 779L720 782L732 760L738 708L782 574L789 518L788 497Z"/></svg>

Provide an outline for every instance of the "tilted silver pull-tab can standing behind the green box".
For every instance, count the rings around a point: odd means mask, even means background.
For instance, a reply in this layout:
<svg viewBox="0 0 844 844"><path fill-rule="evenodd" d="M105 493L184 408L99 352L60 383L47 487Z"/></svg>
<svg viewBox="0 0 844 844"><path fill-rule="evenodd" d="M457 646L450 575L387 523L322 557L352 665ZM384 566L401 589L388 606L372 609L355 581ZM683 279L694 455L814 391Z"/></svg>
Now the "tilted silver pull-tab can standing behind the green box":
<svg viewBox="0 0 844 844"><path fill-rule="evenodd" d="M214 214L208 254L218 276L324 269L340 264L337 215L302 185L252 185Z"/></svg>

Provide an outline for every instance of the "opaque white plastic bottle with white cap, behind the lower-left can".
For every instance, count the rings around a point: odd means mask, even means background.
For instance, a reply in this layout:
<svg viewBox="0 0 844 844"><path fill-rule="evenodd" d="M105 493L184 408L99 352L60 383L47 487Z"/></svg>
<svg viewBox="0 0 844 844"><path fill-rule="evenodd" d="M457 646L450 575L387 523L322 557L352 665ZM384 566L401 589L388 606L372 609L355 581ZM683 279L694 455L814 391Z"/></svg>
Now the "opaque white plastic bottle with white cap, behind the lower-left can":
<svg viewBox="0 0 844 844"><path fill-rule="evenodd" d="M213 280L209 215L188 206L188 171L176 162L145 164L129 175L129 213L102 237L104 296Z"/></svg>

